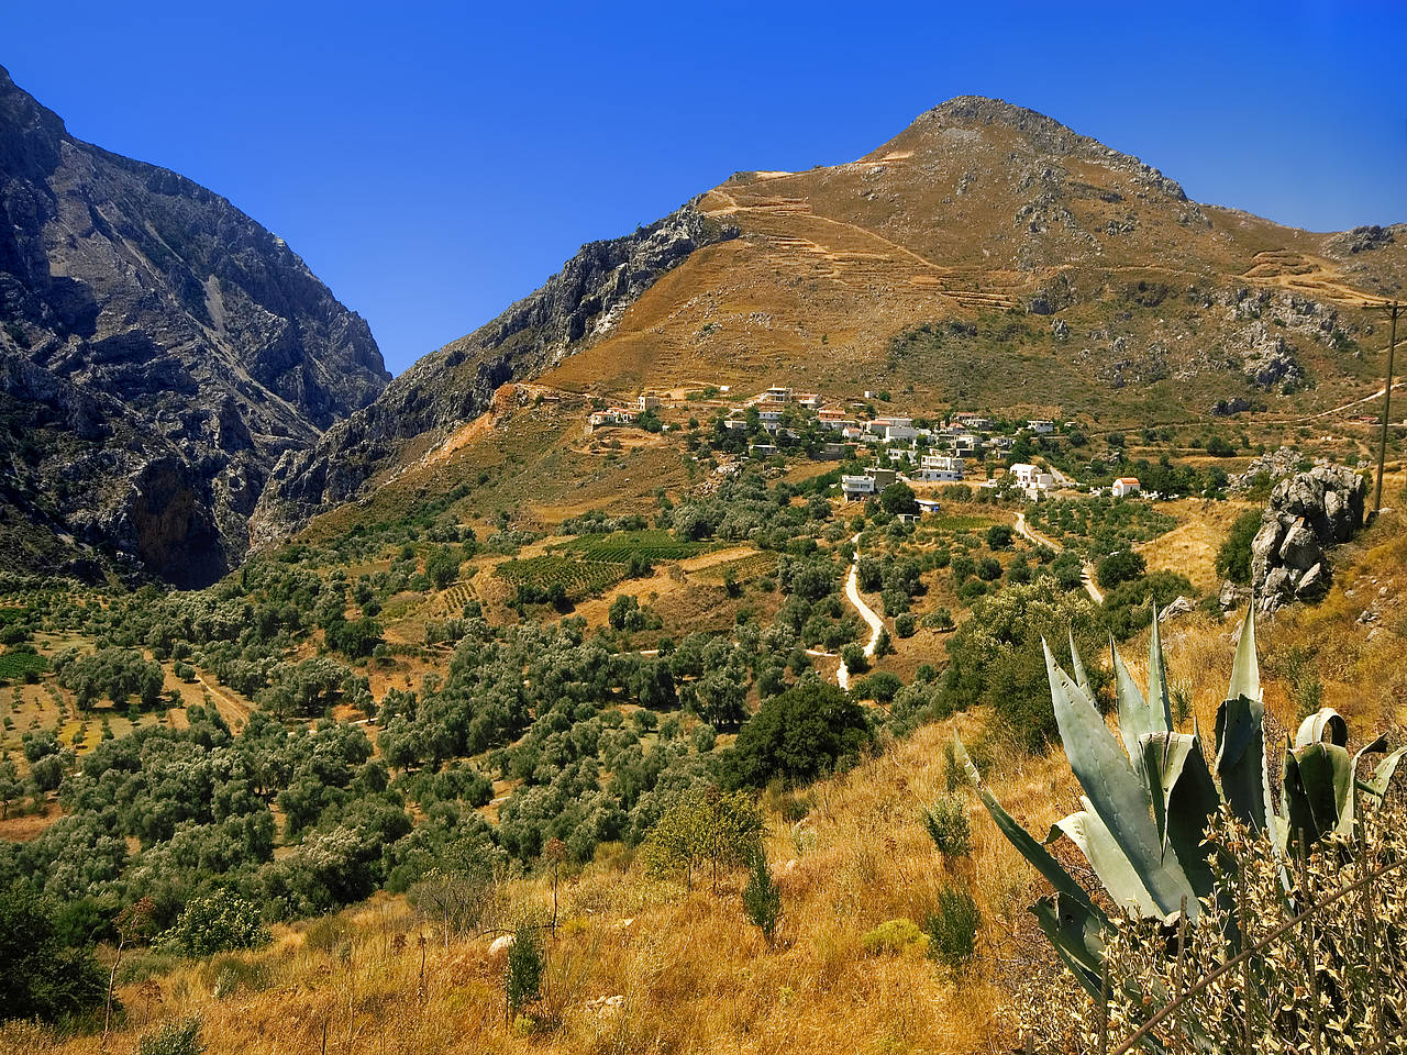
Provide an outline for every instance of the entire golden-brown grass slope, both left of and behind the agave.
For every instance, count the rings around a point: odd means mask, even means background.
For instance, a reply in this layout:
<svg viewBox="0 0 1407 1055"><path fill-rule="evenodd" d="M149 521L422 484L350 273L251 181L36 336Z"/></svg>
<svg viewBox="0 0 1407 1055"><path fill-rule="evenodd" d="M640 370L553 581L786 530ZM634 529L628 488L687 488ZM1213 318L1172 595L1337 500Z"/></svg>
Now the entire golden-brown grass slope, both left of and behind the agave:
<svg viewBox="0 0 1407 1055"><path fill-rule="evenodd" d="M1338 550L1338 580L1321 605L1261 623L1271 744L1283 743L1282 731L1296 722L1303 671L1293 674L1292 653L1304 648L1324 681L1323 702L1349 720L1352 748L1379 730L1401 741L1403 528L1397 513L1380 518ZM1235 630L1235 619L1200 613L1165 627L1169 682L1193 703L1189 727L1193 719L1213 724ZM1138 679L1142 646L1124 650ZM955 730L982 744L993 789L1031 831L1075 809L1078 789L1058 753L1023 755L983 724L985 716L972 713L926 726L801 795L764 798L767 851L784 895L774 947L743 919L740 875L716 893L706 882L689 892L647 879L639 862L605 848L563 881L547 996L536 1009L556 1023L549 1031L523 1035L504 1023L491 934L445 942L433 920L418 920L402 899L377 896L332 920L280 927L273 945L257 952L149 962L142 980L118 989L128 1014L107 1049L135 1051L156 1023L198 1014L212 1055L319 1051L324 1031L331 1052L405 1055L1010 1051L1003 1009L1059 985L1026 913L1043 883L971 800L972 857L944 867L920 810L944 788L943 744ZM1068 844L1057 852L1088 876ZM954 980L922 955L864 950L877 924L922 920L944 883L967 888L981 906L975 973ZM552 903L543 876L515 881L504 895L497 917L504 927L542 917ZM616 1007L602 1003L616 996ZM0 1051L77 1055L100 1047L98 1037L0 1032Z"/></svg>

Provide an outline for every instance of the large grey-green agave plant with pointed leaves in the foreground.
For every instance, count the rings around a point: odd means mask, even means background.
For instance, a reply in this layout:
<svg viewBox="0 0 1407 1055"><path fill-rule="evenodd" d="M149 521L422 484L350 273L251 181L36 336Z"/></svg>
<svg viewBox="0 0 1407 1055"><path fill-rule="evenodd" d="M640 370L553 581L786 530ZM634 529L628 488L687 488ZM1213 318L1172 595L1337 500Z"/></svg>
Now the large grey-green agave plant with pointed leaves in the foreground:
<svg viewBox="0 0 1407 1055"><path fill-rule="evenodd" d="M1164 923L1172 923L1179 914L1196 919L1202 902L1218 893L1211 869L1216 850L1204 841L1207 826L1218 810L1227 809L1242 823L1268 833L1289 861L1331 831L1351 833L1358 792L1370 805L1380 803L1407 754L1407 748L1389 754L1370 779L1358 781L1359 758L1382 753L1387 744L1379 737L1349 755L1348 724L1338 712L1324 708L1307 717L1294 743L1286 746L1278 812L1266 765L1265 705L1251 610L1245 615L1227 698L1217 710L1216 754L1210 767L1196 724L1192 733L1173 729L1157 613L1148 647L1147 698L1113 641L1110 651L1117 737L1095 708L1074 637L1074 677L1057 665L1045 647L1055 722L1071 769L1083 789L1083 809L1057 821L1044 843L1002 807L961 741L957 744L957 757L988 813L1054 888L1054 893L1040 899L1031 912L1064 964L1096 997L1103 983L1103 934L1110 919L1051 855L1048 844L1062 836L1069 838L1120 913Z"/></svg>

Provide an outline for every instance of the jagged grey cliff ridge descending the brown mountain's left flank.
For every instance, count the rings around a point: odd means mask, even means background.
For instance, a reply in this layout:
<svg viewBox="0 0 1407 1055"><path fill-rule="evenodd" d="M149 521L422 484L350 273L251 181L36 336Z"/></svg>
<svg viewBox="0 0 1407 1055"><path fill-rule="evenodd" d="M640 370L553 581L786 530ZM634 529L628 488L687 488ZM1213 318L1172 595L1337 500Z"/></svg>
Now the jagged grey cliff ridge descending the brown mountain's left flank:
<svg viewBox="0 0 1407 1055"><path fill-rule="evenodd" d="M311 449L286 454L250 520L252 544L280 539L355 498L409 445L433 443L488 409L499 385L536 377L608 336L660 276L695 249L736 235L689 203L633 235L582 246L536 293L421 359Z"/></svg>

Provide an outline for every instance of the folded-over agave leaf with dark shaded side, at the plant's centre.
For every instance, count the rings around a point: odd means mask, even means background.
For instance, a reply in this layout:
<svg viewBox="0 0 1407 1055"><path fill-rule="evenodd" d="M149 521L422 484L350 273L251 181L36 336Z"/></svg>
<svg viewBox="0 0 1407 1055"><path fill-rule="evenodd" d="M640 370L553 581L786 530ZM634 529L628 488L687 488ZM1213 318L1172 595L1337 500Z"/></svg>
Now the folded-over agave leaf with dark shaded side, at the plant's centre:
<svg viewBox="0 0 1407 1055"><path fill-rule="evenodd" d="M1202 843L1221 800L1202 754L1202 737L1151 733L1141 747L1162 852L1166 857L1172 850L1197 897L1206 897L1213 890L1213 879ZM1196 902L1189 902L1188 916L1196 919Z"/></svg>

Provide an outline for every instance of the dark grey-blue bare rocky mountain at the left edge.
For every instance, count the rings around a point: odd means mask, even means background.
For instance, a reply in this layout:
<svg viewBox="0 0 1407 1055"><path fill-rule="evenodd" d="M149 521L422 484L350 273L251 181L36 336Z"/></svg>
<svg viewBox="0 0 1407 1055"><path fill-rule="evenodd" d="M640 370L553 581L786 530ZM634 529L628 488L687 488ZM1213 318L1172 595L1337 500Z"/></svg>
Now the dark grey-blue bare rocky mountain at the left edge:
<svg viewBox="0 0 1407 1055"><path fill-rule="evenodd" d="M210 582L279 457L388 380L283 239L0 69L0 570Z"/></svg>

